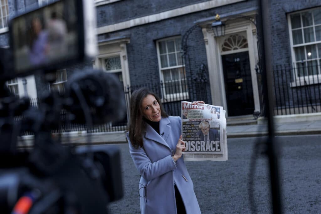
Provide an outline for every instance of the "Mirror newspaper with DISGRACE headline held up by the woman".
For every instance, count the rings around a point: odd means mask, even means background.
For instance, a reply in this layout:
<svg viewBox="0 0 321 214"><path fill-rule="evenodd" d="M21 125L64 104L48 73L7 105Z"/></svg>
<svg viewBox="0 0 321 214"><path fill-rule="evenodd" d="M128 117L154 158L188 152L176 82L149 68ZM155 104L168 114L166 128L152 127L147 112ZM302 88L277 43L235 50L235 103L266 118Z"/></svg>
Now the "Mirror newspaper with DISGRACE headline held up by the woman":
<svg viewBox="0 0 321 214"><path fill-rule="evenodd" d="M225 110L182 101L184 160L228 160Z"/></svg>

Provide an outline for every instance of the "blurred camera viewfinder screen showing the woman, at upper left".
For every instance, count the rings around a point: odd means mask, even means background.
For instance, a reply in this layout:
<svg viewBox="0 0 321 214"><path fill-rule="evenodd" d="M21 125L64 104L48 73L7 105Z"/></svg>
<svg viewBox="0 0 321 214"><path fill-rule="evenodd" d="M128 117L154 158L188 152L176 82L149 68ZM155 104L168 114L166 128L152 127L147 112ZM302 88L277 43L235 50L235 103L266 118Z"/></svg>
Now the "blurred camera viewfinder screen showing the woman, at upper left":
<svg viewBox="0 0 321 214"><path fill-rule="evenodd" d="M13 19L12 37L17 73L77 57L75 1L59 1Z"/></svg>

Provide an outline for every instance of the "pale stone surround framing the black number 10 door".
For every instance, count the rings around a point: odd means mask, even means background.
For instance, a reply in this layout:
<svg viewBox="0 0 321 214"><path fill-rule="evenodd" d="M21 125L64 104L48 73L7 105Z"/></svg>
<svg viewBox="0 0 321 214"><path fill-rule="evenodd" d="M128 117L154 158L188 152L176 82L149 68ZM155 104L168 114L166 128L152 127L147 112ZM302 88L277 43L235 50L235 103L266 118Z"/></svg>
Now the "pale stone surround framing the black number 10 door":
<svg viewBox="0 0 321 214"><path fill-rule="evenodd" d="M238 14L239 16L247 16L255 18L256 11L251 11L243 14ZM224 17L224 18L222 18ZM258 62L258 51L257 51L257 38L256 38L256 26L249 20L244 18L232 18L235 15L224 16L221 15L221 21L226 24L225 35L238 34L241 33L245 35L248 43L248 53L251 68L251 79L253 87L253 98L254 98L254 108L255 111L260 111L260 101L258 94L258 86L256 79L255 66ZM206 21L205 21L206 20ZM222 68L221 59L221 45L224 42L225 37L214 37L214 33L211 24L215 21L213 19L207 18L204 21L199 22L199 26L202 28L207 64L209 71L209 81L211 85L211 97L212 104L216 106L223 106L227 111L227 100L224 87L224 74ZM196 22L197 23L197 22ZM226 113L228 116L228 112Z"/></svg>

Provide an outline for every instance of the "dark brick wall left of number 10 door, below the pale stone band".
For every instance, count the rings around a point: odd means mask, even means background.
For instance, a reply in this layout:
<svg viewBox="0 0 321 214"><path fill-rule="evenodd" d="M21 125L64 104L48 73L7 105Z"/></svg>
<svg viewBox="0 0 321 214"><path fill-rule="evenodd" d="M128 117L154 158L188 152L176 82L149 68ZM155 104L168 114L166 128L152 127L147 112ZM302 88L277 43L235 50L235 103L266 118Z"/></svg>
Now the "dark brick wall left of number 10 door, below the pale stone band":
<svg viewBox="0 0 321 214"><path fill-rule="evenodd" d="M121 2L126 1L120 1ZM165 1L164 4L168 4ZM183 36L185 32L194 25L194 22L203 18L213 17L216 13L229 13L236 9L246 9L253 6L255 1L240 2L237 4L225 5L219 8L213 8L202 12L178 16L150 24L135 26L130 29L110 32L99 35L99 40L116 38L121 36L130 37L130 44L127 44L127 56L130 72L131 85L140 85L146 82L160 81L159 66L157 59L156 41L172 36ZM170 1L169 4L173 4ZM132 13L140 12L140 8L136 8L136 4L130 4ZM163 5L164 6L164 5ZM105 5L108 7L108 5ZM110 5L111 8L114 8ZM122 13L122 9L117 9L114 13ZM144 11L143 11L144 13ZM99 16L98 16L99 17ZM100 20L102 21L102 20ZM99 25L105 25L100 22ZM206 49L201 28L196 28L189 35L187 40L189 64L186 64L187 77L189 81L196 77L202 63L207 68ZM207 73L208 78L208 73ZM191 90L191 91L195 91ZM211 102L210 88L207 86L208 101Z"/></svg>

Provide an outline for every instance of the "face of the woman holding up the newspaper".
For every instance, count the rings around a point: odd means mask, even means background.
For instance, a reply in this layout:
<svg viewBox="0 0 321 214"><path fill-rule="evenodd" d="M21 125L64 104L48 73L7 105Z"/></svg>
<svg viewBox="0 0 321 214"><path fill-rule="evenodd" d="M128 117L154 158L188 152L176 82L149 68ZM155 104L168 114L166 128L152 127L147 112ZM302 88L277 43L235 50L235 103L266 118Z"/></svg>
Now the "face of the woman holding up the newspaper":
<svg viewBox="0 0 321 214"><path fill-rule="evenodd" d="M156 98L149 94L143 99L142 103L143 116L150 121L158 122L161 119L160 116L160 105Z"/></svg>

